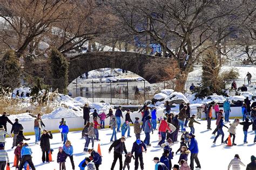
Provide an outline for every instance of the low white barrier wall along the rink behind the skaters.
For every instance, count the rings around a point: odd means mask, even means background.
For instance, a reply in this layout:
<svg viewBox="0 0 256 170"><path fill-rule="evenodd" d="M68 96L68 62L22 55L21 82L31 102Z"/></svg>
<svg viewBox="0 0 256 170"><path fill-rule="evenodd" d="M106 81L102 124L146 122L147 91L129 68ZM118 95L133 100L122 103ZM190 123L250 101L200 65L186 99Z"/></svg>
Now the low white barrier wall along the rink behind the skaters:
<svg viewBox="0 0 256 170"><path fill-rule="evenodd" d="M220 109L223 109L220 107ZM178 111L173 111L172 113L178 114ZM191 114L197 114L197 110L191 110ZM163 117L164 113L163 111L158 111L157 112L157 118ZM225 115L225 114L224 114ZM139 121L142 120L142 113L138 112L133 112L130 113L131 119L134 122L135 118L138 117ZM122 124L125 121L125 113L123 113L124 119L121 118ZM215 119L215 112L213 110L212 117ZM241 107L231 107L231 112L230 112L230 118L241 118ZM205 119L205 113L201 115L201 119ZM45 125L45 129L48 131L52 132L59 132L58 126L59 126L59 121L61 119L43 119L43 123ZM67 124L69 125L70 131L79 131L83 130L84 127L84 119L83 117L76 117L76 118L65 118ZM92 121L92 117L90 117L90 121ZM105 119L105 127L109 127L109 121L110 118ZM19 123L22 124L24 127L24 134L25 135L31 135L34 134L34 122L33 121L19 121ZM98 118L98 123L100 123L99 118ZM7 123L7 128L8 132L10 133L11 131L11 125Z"/></svg>

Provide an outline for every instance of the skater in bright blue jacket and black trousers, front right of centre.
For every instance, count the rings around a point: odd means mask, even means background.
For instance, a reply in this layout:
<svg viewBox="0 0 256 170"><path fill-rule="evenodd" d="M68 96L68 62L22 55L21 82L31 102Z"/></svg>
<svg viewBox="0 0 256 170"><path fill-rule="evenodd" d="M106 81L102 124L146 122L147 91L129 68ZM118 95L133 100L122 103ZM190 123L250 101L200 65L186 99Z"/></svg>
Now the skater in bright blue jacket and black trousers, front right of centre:
<svg viewBox="0 0 256 170"><path fill-rule="evenodd" d="M201 168L199 159L198 159L198 144L197 144L197 140L195 138L196 136L192 133L189 134L189 138L191 139L190 141L190 147L188 148L188 150L190 150L191 155L190 155L190 168L191 170L194 169L194 160L196 161L196 168Z"/></svg>

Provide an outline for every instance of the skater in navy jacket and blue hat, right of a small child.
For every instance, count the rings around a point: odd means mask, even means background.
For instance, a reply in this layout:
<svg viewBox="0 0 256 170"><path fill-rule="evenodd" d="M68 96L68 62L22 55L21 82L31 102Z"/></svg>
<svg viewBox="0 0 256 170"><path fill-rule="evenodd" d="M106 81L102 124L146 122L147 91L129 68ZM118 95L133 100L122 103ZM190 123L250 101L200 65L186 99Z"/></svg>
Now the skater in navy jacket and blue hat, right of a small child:
<svg viewBox="0 0 256 170"><path fill-rule="evenodd" d="M135 156L135 162L134 162L134 166L135 166L135 170L138 170L139 167L139 162L140 162L140 169L144 169L144 162L143 162L143 149L144 148L144 152L147 152L147 147L144 144L144 142L140 139L137 139L133 145L132 145L132 154L134 153Z"/></svg>

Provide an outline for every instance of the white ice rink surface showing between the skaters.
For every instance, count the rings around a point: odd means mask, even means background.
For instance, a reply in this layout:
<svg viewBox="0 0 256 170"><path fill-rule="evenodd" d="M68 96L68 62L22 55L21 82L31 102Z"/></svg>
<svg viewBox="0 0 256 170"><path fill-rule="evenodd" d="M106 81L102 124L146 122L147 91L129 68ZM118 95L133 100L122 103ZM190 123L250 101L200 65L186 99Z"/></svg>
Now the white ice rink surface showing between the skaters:
<svg viewBox="0 0 256 170"><path fill-rule="evenodd" d="M221 142L220 137L217 139L216 144L213 145L212 142L214 137L212 136L212 131L206 130L205 120L201 120L200 123L201 125L194 124L194 127L196 129L195 135L199 145L198 158L202 167L201 169L203 170L227 169L227 166L230 160L234 158L235 154L239 154L241 161L244 162L245 165L247 165L251 161L250 160L251 155L255 155L256 144L253 144L254 132L252 131L252 126L250 126L248 131L248 137L247 137L248 144L243 143L244 133L242 132L242 126L238 125L237 135L235 138L235 143L237 144L237 146L227 147L225 145L220 145L220 142ZM56 122L56 124L58 124L58 122ZM212 129L214 127L215 127L215 120L212 121ZM187 128L187 131L189 131L188 128ZM225 127L224 127L224 133L225 133L224 139L226 139L228 133ZM111 145L110 143L111 134L112 134L112 131L109 128L106 128L104 130L99 130L99 138L101 140L99 142L95 142L95 147L94 147L97 150L97 146L98 144L100 144L100 148L103 155L103 158L102 158L103 162L102 162L102 165L99 166L99 169L110 169L111 167L111 164L113 161L113 149L110 154L108 153L108 149ZM131 151L132 144L136 140L136 137L133 133L133 127L131 127L131 135L132 137L127 138L125 141L127 151ZM121 137L121 134L117 133L117 138L120 138L120 137ZM29 140L28 142L33 152L32 160L36 166L36 169L49 169L49 170L58 169L58 164L56 162L57 152L58 152L58 147L62 146L59 133L53 134L53 139L50 140L51 148L54 149L52 158L53 160L55 160L53 162L50 162L50 164L42 163L41 148L39 145L34 144L35 137L28 136L26 138L31 138L31 140ZM82 161L85 157L89 156L89 154L83 153L85 140L81 139L81 131L70 132L68 134L68 138L69 140L71 140L73 145L73 149L74 149L73 155L74 155L76 169L79 169L78 167L79 162ZM144 140L145 138L144 133L142 133L141 138ZM180 140L180 133L179 133L178 140ZM11 144L12 144L12 139L6 138L5 146L9 154L10 164L12 166L13 160L14 160L14 149L10 149ZM153 157L160 158L161 154L163 153L163 148L160 148L157 146L158 144L157 131L154 131L154 134L151 134L151 144L152 146L147 147L147 152L143 154L144 169L146 170L153 170L154 169L154 163L152 161ZM91 144L89 145L89 147L91 147ZM175 153L178 148L179 148L179 144L174 144L172 146L173 152ZM179 155L180 154L178 155L174 154L174 158L172 160L173 165L177 164ZM189 157L190 155L188 155L188 158ZM124 158L125 157L123 154L123 162L124 162ZM190 164L189 159L188 159L188 164ZM194 165L196 166L196 164ZM130 166L131 166L131 169L134 169L134 160L132 160ZM119 163L117 161L116 167L114 169L118 169L118 168L119 168ZM15 169L15 168L12 167L11 169ZM68 170L72 169L69 158L66 160L66 169ZM241 167L241 169L245 169L245 167Z"/></svg>

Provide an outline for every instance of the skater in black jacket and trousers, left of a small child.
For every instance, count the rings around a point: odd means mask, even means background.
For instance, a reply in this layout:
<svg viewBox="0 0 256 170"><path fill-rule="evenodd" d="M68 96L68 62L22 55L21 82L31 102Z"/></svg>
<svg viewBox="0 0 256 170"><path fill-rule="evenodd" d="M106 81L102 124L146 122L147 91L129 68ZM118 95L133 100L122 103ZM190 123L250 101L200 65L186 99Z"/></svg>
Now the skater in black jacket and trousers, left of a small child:
<svg viewBox="0 0 256 170"><path fill-rule="evenodd" d="M127 154L124 141L125 137L115 140L109 148L109 153L111 152L112 148L114 148L114 160L111 166L111 170L114 170L114 166L116 165L117 159L119 159L119 170L122 170L123 168L122 154L123 152Z"/></svg>

